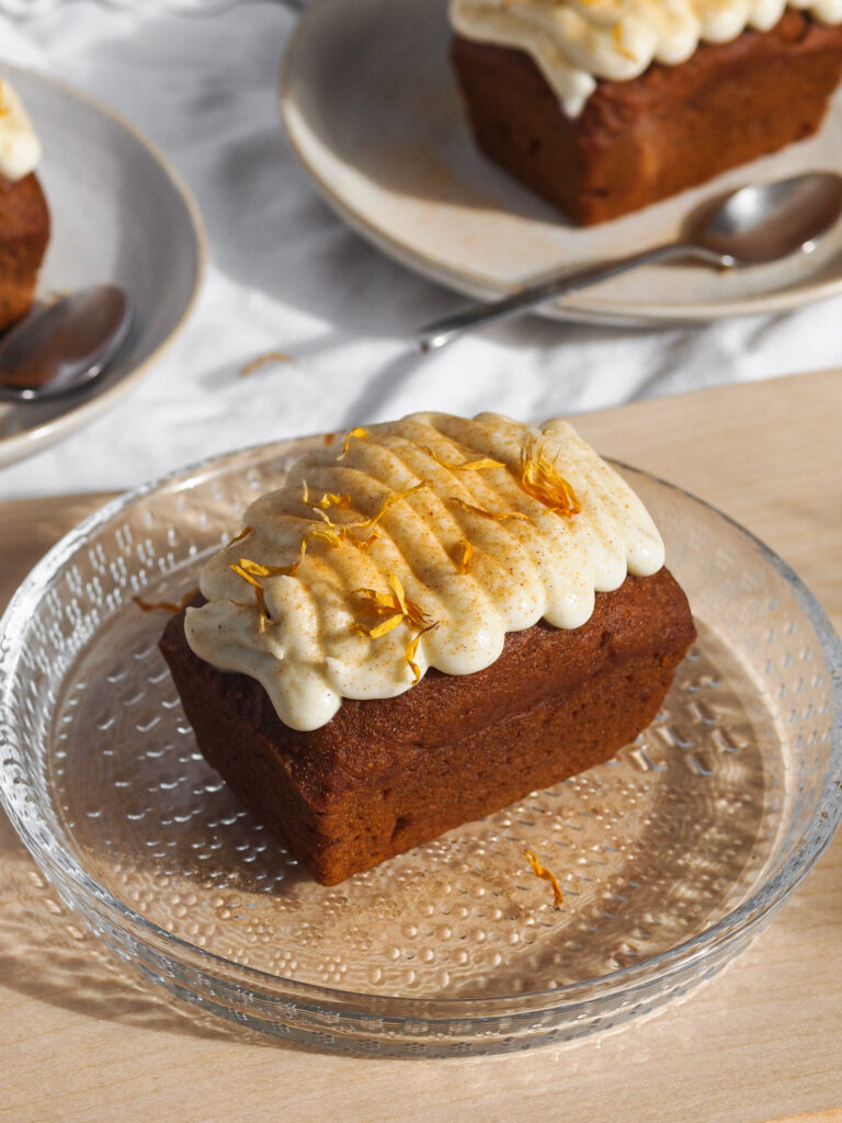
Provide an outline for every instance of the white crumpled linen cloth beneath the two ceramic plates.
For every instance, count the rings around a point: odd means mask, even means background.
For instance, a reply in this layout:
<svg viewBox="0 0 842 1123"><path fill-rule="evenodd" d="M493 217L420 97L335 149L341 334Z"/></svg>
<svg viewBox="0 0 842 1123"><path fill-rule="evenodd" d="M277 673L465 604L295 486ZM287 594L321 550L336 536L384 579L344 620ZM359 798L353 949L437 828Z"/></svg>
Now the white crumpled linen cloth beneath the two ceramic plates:
<svg viewBox="0 0 842 1123"><path fill-rule="evenodd" d="M199 202L210 246L176 343L104 417L0 468L0 499L125 489L232 448L412 410L539 420L840 364L842 298L695 328L527 317L418 355L413 329L464 299L379 254L317 197L278 113L294 20L274 3L185 17L140 0L0 15L2 57L90 92L163 150ZM293 362L240 376L275 350Z"/></svg>

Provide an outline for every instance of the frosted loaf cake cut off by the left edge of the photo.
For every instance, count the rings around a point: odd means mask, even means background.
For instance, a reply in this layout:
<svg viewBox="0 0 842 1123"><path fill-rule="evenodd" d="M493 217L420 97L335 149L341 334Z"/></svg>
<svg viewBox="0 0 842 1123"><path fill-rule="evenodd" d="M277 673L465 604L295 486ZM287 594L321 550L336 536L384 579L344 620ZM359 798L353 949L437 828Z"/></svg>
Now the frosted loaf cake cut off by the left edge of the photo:
<svg viewBox="0 0 842 1123"><path fill-rule="evenodd" d="M40 144L15 90L0 82L0 331L29 311L49 241L49 210L35 173Z"/></svg>

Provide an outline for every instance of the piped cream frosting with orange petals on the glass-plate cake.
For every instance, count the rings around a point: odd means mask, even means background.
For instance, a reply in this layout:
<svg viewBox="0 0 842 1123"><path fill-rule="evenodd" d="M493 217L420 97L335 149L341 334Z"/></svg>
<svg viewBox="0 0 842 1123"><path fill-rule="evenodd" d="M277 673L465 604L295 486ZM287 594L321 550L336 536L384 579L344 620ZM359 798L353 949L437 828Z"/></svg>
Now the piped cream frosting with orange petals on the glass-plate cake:
<svg viewBox="0 0 842 1123"><path fill-rule="evenodd" d="M560 419L415 413L353 430L244 522L203 568L208 603L187 611L185 634L202 659L258 679L301 730L428 667L487 667L506 632L541 618L577 628L597 592L663 565L643 504Z"/></svg>

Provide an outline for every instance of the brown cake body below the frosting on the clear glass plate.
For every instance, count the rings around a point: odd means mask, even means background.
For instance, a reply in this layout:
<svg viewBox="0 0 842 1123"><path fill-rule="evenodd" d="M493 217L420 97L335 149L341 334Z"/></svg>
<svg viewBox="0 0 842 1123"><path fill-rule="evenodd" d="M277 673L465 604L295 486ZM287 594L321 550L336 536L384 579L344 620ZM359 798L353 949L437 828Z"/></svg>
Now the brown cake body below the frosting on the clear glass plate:
<svg viewBox="0 0 842 1123"><path fill-rule="evenodd" d="M254 679L199 659L183 623L182 611L161 647L200 749L326 885L611 758L652 720L695 637L667 569L630 576L582 628L511 632L484 670L431 669L298 732Z"/></svg>

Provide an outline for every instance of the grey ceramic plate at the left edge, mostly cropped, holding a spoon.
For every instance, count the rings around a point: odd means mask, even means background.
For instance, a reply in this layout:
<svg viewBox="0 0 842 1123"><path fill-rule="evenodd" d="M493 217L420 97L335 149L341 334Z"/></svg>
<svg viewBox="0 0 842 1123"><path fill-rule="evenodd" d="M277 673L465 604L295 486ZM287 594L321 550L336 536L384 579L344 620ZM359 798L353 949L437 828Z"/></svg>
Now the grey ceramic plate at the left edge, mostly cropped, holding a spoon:
<svg viewBox="0 0 842 1123"><path fill-rule="evenodd" d="M0 466L39 451L109 409L184 325L204 266L195 203L152 145L86 94L0 65L44 148L38 175L52 236L38 296L101 282L129 293L135 322L97 386L38 405L0 405Z"/></svg>

